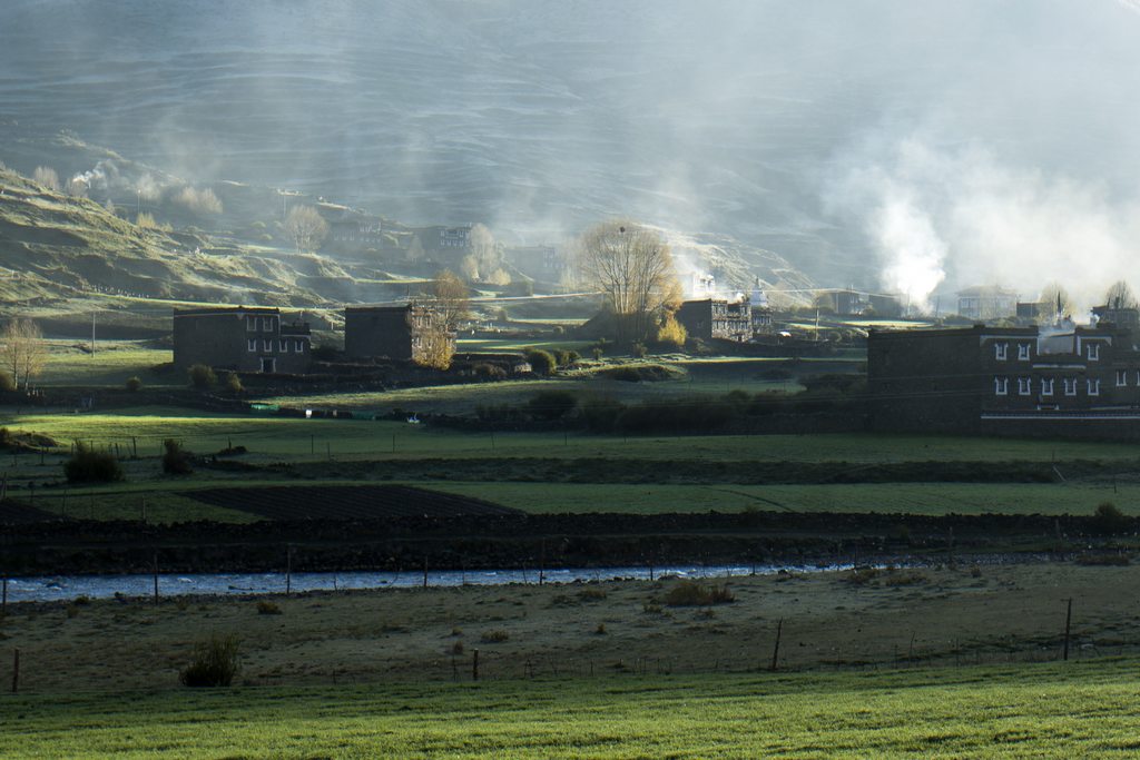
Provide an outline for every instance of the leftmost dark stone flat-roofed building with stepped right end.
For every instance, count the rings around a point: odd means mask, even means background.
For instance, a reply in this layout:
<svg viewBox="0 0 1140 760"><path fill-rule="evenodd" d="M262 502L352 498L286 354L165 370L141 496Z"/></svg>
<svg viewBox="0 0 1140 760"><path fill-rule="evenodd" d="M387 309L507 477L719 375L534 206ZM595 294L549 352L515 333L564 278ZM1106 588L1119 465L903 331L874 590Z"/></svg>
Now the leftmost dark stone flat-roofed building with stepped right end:
<svg viewBox="0 0 1140 760"><path fill-rule="evenodd" d="M312 358L308 322L286 322L280 309L217 307L174 310L174 366L206 365L243 373L302 374Z"/></svg>

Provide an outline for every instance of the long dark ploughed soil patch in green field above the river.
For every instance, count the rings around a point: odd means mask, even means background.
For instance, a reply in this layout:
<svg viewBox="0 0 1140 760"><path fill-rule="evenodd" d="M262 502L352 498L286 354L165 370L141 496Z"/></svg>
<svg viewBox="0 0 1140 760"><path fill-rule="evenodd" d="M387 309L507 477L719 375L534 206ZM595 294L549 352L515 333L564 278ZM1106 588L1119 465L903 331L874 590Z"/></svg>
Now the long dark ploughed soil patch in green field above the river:
<svg viewBox="0 0 1140 760"><path fill-rule="evenodd" d="M268 520L377 520L513 515L516 509L407 485L291 485L219 488L186 496Z"/></svg>

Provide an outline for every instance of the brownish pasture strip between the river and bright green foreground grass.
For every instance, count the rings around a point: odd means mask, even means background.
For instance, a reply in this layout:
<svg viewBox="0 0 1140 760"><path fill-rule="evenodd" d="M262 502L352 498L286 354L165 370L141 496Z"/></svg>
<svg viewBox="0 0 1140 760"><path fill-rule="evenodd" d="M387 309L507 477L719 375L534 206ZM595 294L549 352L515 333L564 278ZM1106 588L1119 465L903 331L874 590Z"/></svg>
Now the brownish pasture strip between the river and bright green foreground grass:
<svg viewBox="0 0 1140 760"><path fill-rule="evenodd" d="M954 665L1140 651L1137 566L956 565L684 581L68 599L10 604L21 689L178 688L195 641L239 637L242 685L315 686L592 672ZM697 602L678 604L678 602ZM781 622L782 621L782 622ZM3 663L8 672L8 663Z"/></svg>

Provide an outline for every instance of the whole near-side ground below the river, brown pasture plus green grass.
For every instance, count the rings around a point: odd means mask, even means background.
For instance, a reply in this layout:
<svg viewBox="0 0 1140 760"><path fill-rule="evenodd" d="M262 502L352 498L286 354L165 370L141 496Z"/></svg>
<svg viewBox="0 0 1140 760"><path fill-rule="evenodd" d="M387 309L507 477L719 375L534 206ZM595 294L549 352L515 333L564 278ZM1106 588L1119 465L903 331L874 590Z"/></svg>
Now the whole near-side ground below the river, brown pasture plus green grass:
<svg viewBox="0 0 1140 760"><path fill-rule="evenodd" d="M23 603L0 755L1130 757L1138 572L735 578L715 607L670 606L676 580ZM235 686L178 687L228 631Z"/></svg>

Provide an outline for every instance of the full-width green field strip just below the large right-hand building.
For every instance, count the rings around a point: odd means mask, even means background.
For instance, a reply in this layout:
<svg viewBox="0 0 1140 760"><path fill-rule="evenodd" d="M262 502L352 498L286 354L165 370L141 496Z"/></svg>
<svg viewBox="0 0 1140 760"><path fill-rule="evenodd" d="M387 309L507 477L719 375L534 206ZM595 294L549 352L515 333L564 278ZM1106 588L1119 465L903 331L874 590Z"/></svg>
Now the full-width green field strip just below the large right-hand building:
<svg viewBox="0 0 1140 760"><path fill-rule="evenodd" d="M821 435L603 436L580 433L467 433L399 422L298 419L258 415L209 415L144 407L115 414L25 414L0 409L0 426L36 432L65 446L81 440L103 446L139 441L156 453L165 438L196 451L233 442L254 455L342 457L605 457L730 461L1131 461L1132 443L837 433ZM146 450L141 450L142 446ZM153 451L150 450L153 449Z"/></svg>

